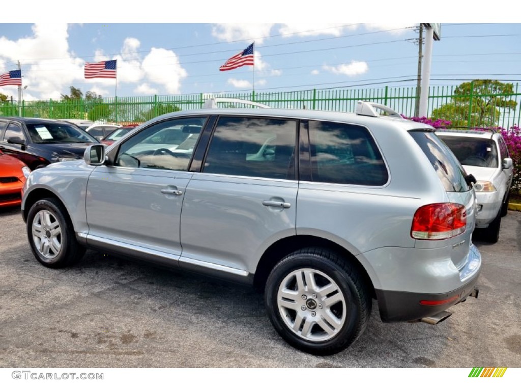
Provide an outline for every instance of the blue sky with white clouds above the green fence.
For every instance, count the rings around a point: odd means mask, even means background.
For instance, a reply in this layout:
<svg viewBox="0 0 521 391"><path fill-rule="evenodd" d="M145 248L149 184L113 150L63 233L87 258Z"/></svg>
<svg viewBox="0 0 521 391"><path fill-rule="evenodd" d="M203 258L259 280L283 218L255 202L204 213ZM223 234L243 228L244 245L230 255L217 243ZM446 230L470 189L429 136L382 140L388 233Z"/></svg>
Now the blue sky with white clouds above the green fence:
<svg viewBox="0 0 521 391"><path fill-rule="evenodd" d="M216 23L211 20L226 18L206 11L200 20L210 21L204 23L180 23L184 18L179 15L167 23L146 10L144 23L125 22L134 21L135 13L114 13L108 17L114 22L72 24L66 21L76 17L66 15L64 21L38 22L46 18L37 9L30 17L34 23L4 23L0 16L0 73L16 69L20 60L26 100L58 99L69 93L70 85L114 96L114 79L83 77L85 62L108 59L118 60L118 96L251 91L254 82L259 92L416 84L411 79L417 74L418 46L413 41L419 16L389 20L380 15L360 23L351 14L347 21L310 21L309 14L291 14L284 23L237 18ZM90 18L100 19L96 14L86 16ZM261 18L268 20L269 12ZM371 20L367 13L361 19ZM433 43L431 85L478 78L521 80L521 23L452 21L442 23L441 35ZM255 72L249 66L219 72L227 58L253 41ZM16 87L0 87L0 92L17 99Z"/></svg>

